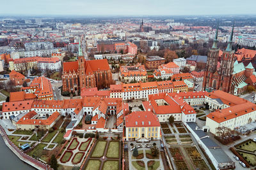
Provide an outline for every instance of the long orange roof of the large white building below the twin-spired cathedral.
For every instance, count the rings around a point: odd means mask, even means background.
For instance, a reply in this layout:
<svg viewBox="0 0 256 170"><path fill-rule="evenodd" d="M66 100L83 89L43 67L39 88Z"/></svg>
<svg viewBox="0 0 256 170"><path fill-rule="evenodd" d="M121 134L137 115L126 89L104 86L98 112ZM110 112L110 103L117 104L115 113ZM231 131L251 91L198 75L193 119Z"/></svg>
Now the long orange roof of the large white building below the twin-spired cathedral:
<svg viewBox="0 0 256 170"><path fill-rule="evenodd" d="M215 122L221 123L232 118L240 117L255 110L256 104L247 101L246 103L237 104L236 106L228 107L223 110L216 110L207 115L207 117L211 118Z"/></svg>

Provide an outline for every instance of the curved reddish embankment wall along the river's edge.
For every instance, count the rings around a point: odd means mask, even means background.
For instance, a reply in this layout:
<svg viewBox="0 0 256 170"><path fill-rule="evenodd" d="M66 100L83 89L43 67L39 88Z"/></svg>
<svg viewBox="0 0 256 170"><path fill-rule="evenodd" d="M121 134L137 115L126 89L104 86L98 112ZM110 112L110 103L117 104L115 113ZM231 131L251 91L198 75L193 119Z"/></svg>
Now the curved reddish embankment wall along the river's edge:
<svg viewBox="0 0 256 170"><path fill-rule="evenodd" d="M52 169L49 165L44 164L36 159L34 159L33 157L30 157L29 155L27 155L26 153L23 153L16 145L14 145L12 143L12 141L10 141L10 139L8 138L6 132L4 131L3 127L0 125L0 130L3 133L3 138L6 139L6 141L8 142L8 144L10 145L10 149L13 148L15 152L15 155L17 155L17 157L19 157L19 159L23 160L24 162L28 163L29 165L35 167L36 169ZM7 145L8 146L8 145ZM11 149L12 150L12 149ZM18 155L19 154L19 155ZM25 161L26 160L26 161ZM53 170L53 169L52 169Z"/></svg>

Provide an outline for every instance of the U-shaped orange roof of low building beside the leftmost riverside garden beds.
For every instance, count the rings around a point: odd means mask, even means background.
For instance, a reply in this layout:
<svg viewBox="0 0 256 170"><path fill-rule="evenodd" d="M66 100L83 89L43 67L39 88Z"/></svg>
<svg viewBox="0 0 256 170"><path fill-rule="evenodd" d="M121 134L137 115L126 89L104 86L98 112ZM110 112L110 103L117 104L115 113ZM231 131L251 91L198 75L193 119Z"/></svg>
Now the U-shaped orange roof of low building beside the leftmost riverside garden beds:
<svg viewBox="0 0 256 170"><path fill-rule="evenodd" d="M35 111L29 111L24 117L20 118L20 120L16 124L22 125L51 125L59 116L60 113L58 111L52 113L52 115L47 119L37 119L33 118L37 115Z"/></svg>

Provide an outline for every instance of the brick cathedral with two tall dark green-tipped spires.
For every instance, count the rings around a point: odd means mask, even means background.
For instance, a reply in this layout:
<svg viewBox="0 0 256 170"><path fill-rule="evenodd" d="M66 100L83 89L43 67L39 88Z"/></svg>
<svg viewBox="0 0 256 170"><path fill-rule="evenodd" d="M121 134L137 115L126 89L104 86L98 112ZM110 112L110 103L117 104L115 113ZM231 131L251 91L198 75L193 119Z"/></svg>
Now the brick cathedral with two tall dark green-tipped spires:
<svg viewBox="0 0 256 170"><path fill-rule="evenodd" d="M220 49L217 47L217 28L214 43L207 58L203 82L204 90L223 90L224 92L237 95L243 93L248 85L254 85L251 80L255 80L256 73L252 67L252 63L244 67L243 62L238 63L236 56L234 55L234 50L232 50L233 33L234 24L228 41L228 46L220 56Z"/></svg>

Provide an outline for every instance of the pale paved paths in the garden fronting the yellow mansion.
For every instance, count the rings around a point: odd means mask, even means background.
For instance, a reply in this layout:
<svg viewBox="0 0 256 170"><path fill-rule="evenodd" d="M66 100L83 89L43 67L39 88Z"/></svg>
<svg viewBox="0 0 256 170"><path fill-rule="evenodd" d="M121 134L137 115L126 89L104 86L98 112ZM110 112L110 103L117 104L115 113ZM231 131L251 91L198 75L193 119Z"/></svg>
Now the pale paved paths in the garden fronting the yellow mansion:
<svg viewBox="0 0 256 170"><path fill-rule="evenodd" d="M157 168L157 170L160 170L160 169L164 169L164 166L163 166L163 160L162 160L162 157L161 155L159 154L159 159L148 159L146 157L146 150L150 150L150 148L138 148L138 151L140 150L143 150L143 154L144 154L144 157L143 159L132 159L132 152L130 150L130 147L131 147L131 143L133 144L141 144L141 145L145 145L145 144L153 144L153 143L156 143L157 145L157 148L160 148L160 141L150 141L149 143L136 143L136 141L129 141L127 143L129 149L128 149L128 155L129 155L129 167L131 169L132 166L132 161L136 161L136 160L142 160L145 164L145 169L148 170L148 166L147 166L147 162L150 161L150 160L154 160L154 161L159 161L160 162L160 166Z"/></svg>

